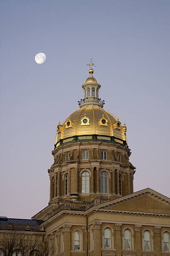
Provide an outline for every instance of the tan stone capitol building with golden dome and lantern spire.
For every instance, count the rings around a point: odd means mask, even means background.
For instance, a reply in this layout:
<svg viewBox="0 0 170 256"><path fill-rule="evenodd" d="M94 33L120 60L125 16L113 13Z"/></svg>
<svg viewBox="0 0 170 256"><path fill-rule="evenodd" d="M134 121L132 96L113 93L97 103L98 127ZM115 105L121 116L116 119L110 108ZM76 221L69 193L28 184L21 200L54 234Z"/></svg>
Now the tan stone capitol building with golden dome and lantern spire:
<svg viewBox="0 0 170 256"><path fill-rule="evenodd" d="M103 109L88 65L80 108L57 125L48 205L30 220L0 217L0 241L15 230L44 239L51 256L170 256L170 198L133 191L127 127Z"/></svg>

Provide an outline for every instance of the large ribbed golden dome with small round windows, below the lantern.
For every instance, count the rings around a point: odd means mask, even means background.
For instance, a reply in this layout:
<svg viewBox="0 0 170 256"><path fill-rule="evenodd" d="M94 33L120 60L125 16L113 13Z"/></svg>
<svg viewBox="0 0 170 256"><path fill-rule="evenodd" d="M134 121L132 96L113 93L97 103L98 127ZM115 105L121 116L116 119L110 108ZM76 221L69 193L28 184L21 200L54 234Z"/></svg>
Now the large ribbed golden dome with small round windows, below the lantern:
<svg viewBox="0 0 170 256"><path fill-rule="evenodd" d="M86 123L83 123L84 119L86 119ZM60 125L55 144L60 139L90 134L115 136L126 141L125 133L118 118L102 108L83 108L72 113Z"/></svg>

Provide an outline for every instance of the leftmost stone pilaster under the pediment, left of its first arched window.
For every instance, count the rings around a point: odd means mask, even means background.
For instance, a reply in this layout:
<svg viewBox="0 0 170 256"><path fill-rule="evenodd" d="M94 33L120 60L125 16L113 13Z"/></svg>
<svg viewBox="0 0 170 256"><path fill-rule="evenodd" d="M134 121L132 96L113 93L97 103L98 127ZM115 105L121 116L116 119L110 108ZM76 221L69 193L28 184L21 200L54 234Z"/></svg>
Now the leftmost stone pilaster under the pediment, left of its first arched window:
<svg viewBox="0 0 170 256"><path fill-rule="evenodd" d="M94 228L94 255L98 256L101 255L101 223L98 221L95 221L93 223Z"/></svg>

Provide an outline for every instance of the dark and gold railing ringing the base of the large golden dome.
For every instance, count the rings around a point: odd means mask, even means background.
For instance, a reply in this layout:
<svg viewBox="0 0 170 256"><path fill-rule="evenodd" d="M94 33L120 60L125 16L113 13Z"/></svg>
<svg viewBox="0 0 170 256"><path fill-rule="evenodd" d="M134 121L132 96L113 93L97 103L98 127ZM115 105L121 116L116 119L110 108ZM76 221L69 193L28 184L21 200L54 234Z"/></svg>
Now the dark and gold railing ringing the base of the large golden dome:
<svg viewBox="0 0 170 256"><path fill-rule="evenodd" d="M72 142L80 142L80 141L105 141L105 142L110 142L110 143L118 143L122 144L123 146L128 146L127 142L120 139L116 138L115 136L106 136L106 135L97 135L97 134L92 134L92 135L75 135L72 137L60 139L54 146L55 148L58 146L62 146L66 143L72 143Z"/></svg>

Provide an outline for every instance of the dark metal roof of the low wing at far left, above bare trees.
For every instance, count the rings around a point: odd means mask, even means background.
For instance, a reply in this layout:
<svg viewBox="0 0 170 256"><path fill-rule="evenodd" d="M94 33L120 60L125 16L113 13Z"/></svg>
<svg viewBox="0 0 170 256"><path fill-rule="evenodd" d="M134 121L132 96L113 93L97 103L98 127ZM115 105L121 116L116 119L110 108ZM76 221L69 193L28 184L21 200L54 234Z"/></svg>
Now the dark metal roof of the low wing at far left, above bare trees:
<svg viewBox="0 0 170 256"><path fill-rule="evenodd" d="M30 224L30 225L40 225L43 220L30 220L30 219L13 219L7 217L0 217L0 223L2 224Z"/></svg>

